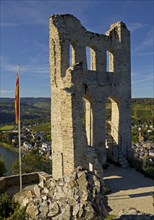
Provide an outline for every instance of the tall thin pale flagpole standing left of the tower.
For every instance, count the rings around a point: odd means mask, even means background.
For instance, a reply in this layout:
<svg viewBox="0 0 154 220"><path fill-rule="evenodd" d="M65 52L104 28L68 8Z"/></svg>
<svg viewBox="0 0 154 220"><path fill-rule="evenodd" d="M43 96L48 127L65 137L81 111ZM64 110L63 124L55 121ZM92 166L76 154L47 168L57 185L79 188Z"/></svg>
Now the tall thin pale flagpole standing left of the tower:
<svg viewBox="0 0 154 220"><path fill-rule="evenodd" d="M20 191L22 191L22 168L21 168L21 127L20 127L20 64L18 64L19 76L19 120L18 120L18 137L19 137L19 176L20 176Z"/></svg>

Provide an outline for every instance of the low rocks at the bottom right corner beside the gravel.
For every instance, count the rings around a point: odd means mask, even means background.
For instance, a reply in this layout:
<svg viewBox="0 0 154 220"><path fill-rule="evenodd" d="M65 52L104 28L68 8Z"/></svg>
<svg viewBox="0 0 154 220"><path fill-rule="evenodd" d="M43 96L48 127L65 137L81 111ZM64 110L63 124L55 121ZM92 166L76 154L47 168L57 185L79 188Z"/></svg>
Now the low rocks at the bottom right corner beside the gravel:
<svg viewBox="0 0 154 220"><path fill-rule="evenodd" d="M135 208L122 210L117 218L113 220L153 220L154 215L142 213Z"/></svg>

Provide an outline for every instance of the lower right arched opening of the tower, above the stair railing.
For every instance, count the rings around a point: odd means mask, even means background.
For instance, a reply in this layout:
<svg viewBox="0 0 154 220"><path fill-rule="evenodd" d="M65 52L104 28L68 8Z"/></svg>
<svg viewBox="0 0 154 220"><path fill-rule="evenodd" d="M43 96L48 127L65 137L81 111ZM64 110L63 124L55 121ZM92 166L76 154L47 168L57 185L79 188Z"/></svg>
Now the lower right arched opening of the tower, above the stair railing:
<svg viewBox="0 0 154 220"><path fill-rule="evenodd" d="M119 106L118 100L109 97L105 105L106 143L117 145L119 141Z"/></svg>

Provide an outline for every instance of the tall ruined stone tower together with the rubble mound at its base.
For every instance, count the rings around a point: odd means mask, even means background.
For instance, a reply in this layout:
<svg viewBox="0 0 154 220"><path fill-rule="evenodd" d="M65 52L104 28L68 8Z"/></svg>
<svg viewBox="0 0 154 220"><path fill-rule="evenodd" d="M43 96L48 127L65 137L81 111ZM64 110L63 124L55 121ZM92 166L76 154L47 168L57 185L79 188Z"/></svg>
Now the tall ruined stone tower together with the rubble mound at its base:
<svg viewBox="0 0 154 220"><path fill-rule="evenodd" d="M49 49L52 176L31 174L37 184L14 199L29 220L103 220L108 211L102 165L109 158L126 167L131 155L129 31L117 22L105 35L95 34L72 15L53 15Z"/></svg>

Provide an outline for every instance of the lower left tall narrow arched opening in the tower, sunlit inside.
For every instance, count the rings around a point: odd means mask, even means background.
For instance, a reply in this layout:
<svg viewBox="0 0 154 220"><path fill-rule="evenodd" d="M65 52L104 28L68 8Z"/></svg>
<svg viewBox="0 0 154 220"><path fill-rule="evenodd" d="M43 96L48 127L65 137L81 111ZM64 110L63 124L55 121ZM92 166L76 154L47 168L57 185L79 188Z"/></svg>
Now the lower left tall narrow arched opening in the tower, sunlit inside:
<svg viewBox="0 0 154 220"><path fill-rule="evenodd" d="M85 124L87 142L89 146L93 145L93 113L90 101L88 99L83 98L84 105L84 119L83 122Z"/></svg>

